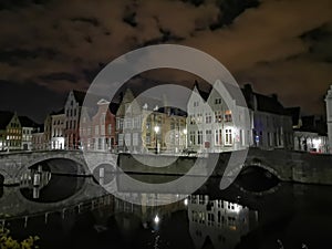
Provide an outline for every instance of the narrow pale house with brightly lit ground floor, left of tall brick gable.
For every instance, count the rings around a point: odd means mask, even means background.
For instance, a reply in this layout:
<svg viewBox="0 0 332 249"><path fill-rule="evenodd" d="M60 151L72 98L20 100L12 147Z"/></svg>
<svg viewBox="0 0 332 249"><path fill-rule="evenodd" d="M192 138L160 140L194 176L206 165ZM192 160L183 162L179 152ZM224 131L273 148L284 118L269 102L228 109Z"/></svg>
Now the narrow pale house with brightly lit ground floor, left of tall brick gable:
<svg viewBox="0 0 332 249"><path fill-rule="evenodd" d="M64 123L65 115L63 110L59 113L51 114L51 148L64 149Z"/></svg>

